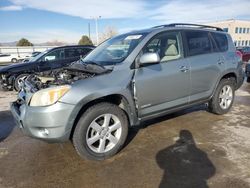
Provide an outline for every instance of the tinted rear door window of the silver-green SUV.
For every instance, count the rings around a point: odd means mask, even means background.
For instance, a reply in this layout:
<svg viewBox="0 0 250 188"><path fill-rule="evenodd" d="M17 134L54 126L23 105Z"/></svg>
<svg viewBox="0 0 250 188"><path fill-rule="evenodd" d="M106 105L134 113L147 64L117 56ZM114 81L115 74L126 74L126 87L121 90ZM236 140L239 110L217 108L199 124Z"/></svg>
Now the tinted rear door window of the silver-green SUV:
<svg viewBox="0 0 250 188"><path fill-rule="evenodd" d="M212 45L206 31L187 31L186 40L188 45L188 55L201 55L212 52Z"/></svg>

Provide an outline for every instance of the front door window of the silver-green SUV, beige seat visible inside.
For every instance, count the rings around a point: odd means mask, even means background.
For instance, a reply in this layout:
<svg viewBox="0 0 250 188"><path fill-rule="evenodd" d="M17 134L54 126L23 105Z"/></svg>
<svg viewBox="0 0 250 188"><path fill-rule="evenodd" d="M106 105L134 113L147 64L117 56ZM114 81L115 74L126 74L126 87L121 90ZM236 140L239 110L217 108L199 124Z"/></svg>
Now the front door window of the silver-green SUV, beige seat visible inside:
<svg viewBox="0 0 250 188"><path fill-rule="evenodd" d="M161 33L156 35L144 47L144 53L157 53L160 56L160 62L180 59L182 57L181 50L181 34L179 32Z"/></svg>

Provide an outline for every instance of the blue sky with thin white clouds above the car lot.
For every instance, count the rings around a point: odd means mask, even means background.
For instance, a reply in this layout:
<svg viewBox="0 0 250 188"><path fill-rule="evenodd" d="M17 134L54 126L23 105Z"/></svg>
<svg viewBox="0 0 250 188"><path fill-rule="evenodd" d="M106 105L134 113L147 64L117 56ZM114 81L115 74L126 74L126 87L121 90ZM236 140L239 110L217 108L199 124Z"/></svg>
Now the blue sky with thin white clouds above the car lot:
<svg viewBox="0 0 250 188"><path fill-rule="evenodd" d="M0 0L0 43L22 37L33 43L76 43L107 26L119 33L171 22L250 20L250 0Z"/></svg>

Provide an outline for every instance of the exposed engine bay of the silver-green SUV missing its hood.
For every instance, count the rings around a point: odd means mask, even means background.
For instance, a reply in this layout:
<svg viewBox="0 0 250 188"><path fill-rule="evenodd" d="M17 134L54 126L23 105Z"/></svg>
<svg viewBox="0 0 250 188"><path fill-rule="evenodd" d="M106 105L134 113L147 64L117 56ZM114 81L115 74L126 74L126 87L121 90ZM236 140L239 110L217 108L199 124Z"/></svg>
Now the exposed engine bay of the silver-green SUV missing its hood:
<svg viewBox="0 0 250 188"><path fill-rule="evenodd" d="M106 69L101 65L84 63L82 60L79 60L73 62L68 67L31 74L25 79L23 85L29 85L29 87L32 87L33 92L35 92L51 86L72 84L77 80L94 77L110 71L110 69Z"/></svg>

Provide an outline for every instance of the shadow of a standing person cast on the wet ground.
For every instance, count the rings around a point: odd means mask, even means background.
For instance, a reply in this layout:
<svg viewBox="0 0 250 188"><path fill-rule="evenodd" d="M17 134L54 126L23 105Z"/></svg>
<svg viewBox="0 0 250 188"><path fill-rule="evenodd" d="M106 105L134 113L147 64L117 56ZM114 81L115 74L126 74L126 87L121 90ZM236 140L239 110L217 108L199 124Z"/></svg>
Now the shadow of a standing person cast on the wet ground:
<svg viewBox="0 0 250 188"><path fill-rule="evenodd" d="M196 147L188 130L181 130L174 145L159 151L156 161L164 170L160 188L207 188L207 180L216 172L207 154Z"/></svg>

